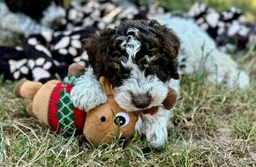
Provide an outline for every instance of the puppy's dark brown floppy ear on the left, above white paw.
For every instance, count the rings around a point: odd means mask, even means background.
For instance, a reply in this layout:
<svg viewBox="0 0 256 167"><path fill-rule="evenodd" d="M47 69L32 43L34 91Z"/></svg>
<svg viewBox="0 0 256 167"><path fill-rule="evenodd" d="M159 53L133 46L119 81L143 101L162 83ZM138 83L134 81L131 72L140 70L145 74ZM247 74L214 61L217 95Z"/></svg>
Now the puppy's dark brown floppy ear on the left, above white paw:
<svg viewBox="0 0 256 167"><path fill-rule="evenodd" d="M116 31L113 29L104 29L92 37L83 41L84 48L87 50L89 64L94 69L94 75L99 79L104 76L104 64L108 62L108 51L113 39L111 36Z"/></svg>

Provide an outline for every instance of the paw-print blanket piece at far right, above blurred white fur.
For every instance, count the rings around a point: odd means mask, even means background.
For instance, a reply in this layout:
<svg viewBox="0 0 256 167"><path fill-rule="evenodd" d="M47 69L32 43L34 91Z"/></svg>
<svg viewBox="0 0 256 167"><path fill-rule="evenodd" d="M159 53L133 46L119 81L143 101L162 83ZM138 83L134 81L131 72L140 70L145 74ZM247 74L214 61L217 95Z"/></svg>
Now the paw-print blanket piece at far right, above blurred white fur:
<svg viewBox="0 0 256 167"><path fill-rule="evenodd" d="M244 49L256 39L256 24L246 22L243 12L234 7L217 12L206 4L194 4L187 16L194 18L222 51Z"/></svg>

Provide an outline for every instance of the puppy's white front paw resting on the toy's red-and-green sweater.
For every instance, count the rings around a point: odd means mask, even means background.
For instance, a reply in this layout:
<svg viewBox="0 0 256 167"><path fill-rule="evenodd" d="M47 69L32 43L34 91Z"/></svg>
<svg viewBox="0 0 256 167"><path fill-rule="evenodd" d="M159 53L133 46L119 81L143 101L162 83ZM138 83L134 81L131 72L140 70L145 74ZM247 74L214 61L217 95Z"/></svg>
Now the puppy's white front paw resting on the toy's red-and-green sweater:
<svg viewBox="0 0 256 167"><path fill-rule="evenodd" d="M94 70L91 67L83 76L79 76L72 88L71 100L75 107L86 112L107 101L107 96L94 76Z"/></svg>

